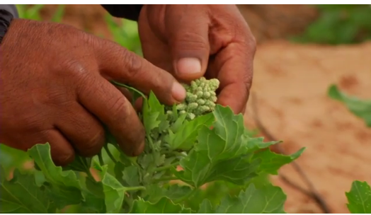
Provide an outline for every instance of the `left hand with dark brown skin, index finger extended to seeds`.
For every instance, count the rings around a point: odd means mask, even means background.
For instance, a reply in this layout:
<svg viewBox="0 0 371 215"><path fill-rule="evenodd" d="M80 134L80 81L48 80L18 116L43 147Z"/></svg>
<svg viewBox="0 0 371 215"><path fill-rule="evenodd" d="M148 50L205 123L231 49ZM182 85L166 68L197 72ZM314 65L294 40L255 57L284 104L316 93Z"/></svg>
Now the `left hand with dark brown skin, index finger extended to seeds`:
<svg viewBox="0 0 371 215"><path fill-rule="evenodd" d="M67 25L15 19L0 46L0 142L27 150L51 145L57 165L93 156L103 124L129 156L144 149L144 128L108 80L130 83L163 103L185 97L168 72L108 40Z"/></svg>

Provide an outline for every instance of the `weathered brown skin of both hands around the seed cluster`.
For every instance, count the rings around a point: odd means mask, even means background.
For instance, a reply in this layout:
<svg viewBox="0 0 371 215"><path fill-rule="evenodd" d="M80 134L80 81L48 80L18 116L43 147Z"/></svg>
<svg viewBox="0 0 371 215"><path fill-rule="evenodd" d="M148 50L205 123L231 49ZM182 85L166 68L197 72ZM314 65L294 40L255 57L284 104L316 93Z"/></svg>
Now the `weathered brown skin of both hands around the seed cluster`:
<svg viewBox="0 0 371 215"><path fill-rule="evenodd" d="M27 150L49 142L56 165L96 155L105 124L128 156L144 149L144 127L109 81L185 98L180 81L220 81L217 103L244 112L255 39L234 5L145 5L144 58L69 25L14 19L0 46L0 142Z"/></svg>

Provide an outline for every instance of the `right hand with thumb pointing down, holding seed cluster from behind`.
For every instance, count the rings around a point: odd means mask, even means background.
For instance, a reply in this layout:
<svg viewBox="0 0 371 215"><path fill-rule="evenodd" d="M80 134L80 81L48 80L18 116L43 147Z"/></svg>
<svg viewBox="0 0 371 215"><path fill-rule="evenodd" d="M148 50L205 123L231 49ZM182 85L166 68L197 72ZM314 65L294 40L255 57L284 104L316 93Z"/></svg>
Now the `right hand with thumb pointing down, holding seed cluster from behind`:
<svg viewBox="0 0 371 215"><path fill-rule="evenodd" d="M144 5L139 37L149 62L183 81L220 81L217 103L244 112L255 38L233 5Z"/></svg>

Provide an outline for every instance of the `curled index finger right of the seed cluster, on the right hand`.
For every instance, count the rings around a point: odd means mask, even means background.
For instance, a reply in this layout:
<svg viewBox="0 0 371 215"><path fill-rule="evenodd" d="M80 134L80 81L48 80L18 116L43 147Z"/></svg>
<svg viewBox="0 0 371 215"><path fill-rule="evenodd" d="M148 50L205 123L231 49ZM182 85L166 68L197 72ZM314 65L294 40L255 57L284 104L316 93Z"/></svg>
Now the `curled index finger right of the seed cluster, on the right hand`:
<svg viewBox="0 0 371 215"><path fill-rule="evenodd" d="M220 81L217 103L229 106L236 114L244 110L249 98L254 54L253 43L231 43L217 54L210 68L217 71Z"/></svg>

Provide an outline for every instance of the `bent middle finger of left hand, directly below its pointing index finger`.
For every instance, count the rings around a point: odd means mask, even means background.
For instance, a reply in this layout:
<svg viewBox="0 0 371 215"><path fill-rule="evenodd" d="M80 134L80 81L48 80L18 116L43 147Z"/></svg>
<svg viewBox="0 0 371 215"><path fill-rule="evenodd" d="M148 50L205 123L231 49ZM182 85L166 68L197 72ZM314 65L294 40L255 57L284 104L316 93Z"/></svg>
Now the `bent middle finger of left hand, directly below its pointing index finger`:
<svg viewBox="0 0 371 215"><path fill-rule="evenodd" d="M127 156L138 156L144 149L144 127L130 101L101 76L90 79L91 84L78 88L80 103L108 127Z"/></svg>

